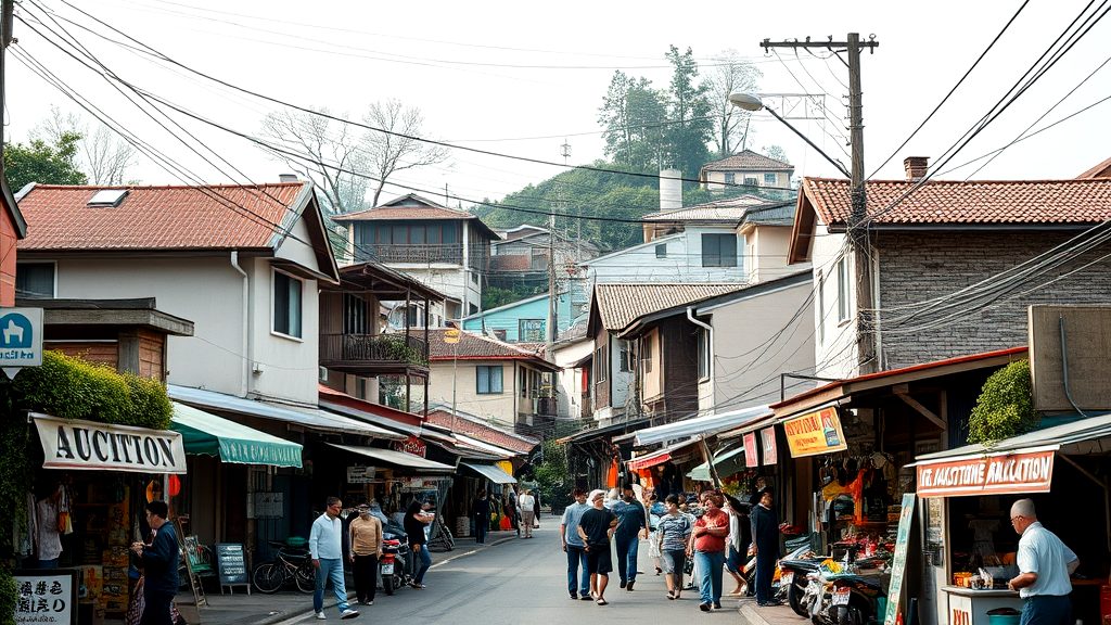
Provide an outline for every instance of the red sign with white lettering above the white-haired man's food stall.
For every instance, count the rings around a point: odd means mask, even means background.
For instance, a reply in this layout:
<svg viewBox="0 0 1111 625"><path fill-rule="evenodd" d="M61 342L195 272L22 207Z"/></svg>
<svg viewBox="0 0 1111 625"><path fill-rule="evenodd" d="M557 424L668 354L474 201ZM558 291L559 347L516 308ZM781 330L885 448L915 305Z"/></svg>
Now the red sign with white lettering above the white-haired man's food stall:
<svg viewBox="0 0 1111 625"><path fill-rule="evenodd" d="M1028 452L918 465L919 497L1049 493L1054 452Z"/></svg>

